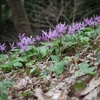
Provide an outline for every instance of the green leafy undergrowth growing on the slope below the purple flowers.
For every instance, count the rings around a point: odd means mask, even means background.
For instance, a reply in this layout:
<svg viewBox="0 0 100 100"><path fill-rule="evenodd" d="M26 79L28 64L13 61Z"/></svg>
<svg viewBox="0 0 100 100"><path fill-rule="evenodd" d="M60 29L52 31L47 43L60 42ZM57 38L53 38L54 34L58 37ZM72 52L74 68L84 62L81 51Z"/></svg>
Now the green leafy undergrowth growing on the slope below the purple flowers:
<svg viewBox="0 0 100 100"><path fill-rule="evenodd" d="M99 25L97 25L96 28L88 26L80 31L75 31L73 35L64 34L59 38L53 38L51 41L40 42L41 46L38 47L30 44L27 46L27 49L24 50L18 47L13 48L6 54L3 52L0 54L0 69L3 73L9 73L12 70L17 72L20 69L25 69L27 74L37 76L37 78L46 77L51 72L54 72L59 76L68 70L70 61L75 63L76 59L73 58L74 55L79 56L80 51L89 51L92 49L96 51L96 60L100 63L100 47L99 44L95 43L95 38L99 35ZM45 68L42 73L37 65L34 68L31 67L44 59L48 59L48 61L52 62L53 65L49 68ZM94 76L96 74L94 72L95 66L90 67L89 63L86 62L82 62L80 65L72 67L78 69L75 73L76 75L81 74L81 71L84 75L90 74ZM0 77L0 81L0 88L4 85L4 89L0 90L2 98L0 100L5 100L3 99L4 95L7 96L7 88L11 83L4 81L3 77ZM75 89L80 89L80 86L83 87L82 82L77 81L77 84L74 87Z"/></svg>

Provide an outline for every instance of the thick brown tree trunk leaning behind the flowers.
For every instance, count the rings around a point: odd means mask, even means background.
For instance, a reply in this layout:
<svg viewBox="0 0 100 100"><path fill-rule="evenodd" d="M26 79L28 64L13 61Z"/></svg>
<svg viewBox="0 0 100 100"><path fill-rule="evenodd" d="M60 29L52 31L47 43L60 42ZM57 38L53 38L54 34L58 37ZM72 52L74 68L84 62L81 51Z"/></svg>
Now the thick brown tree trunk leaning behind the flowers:
<svg viewBox="0 0 100 100"><path fill-rule="evenodd" d="M27 36L32 35L32 30L22 0L8 0L8 3L18 34L25 33Z"/></svg>

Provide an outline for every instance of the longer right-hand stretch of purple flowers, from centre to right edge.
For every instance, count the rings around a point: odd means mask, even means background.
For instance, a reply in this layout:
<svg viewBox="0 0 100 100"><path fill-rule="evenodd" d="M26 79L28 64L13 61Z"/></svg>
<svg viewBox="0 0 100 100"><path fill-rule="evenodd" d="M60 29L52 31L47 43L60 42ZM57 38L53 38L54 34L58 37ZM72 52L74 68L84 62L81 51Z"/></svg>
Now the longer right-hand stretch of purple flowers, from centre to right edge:
<svg viewBox="0 0 100 100"><path fill-rule="evenodd" d="M55 28L55 30L49 29L49 32L42 31L42 37L41 39L49 41L52 38L59 38L64 33L68 33L71 35L74 35L76 31L80 32L82 29L84 29L87 26L94 27L96 25L100 24L100 16L94 16L92 18L85 18L83 22L76 22L72 23L71 25L65 25L64 24L58 24ZM40 39L40 40L41 40Z"/></svg>

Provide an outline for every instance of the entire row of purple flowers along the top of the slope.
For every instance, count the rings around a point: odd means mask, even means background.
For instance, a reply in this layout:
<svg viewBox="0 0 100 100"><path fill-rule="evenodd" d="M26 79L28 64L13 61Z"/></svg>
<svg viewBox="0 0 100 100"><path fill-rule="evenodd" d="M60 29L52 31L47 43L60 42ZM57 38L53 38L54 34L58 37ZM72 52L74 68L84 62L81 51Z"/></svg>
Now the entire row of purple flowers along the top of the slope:
<svg viewBox="0 0 100 100"><path fill-rule="evenodd" d="M53 38L59 38L61 36L63 36L65 33L74 35L76 31L80 32L82 29L84 29L87 26L96 26L100 24L100 16L94 16L92 18L85 18L83 22L76 22L76 23L72 23L72 25L66 25L64 24L58 24L55 28L55 30L52 30L51 28L49 29L49 31L43 31L42 30L42 35L41 36L36 36L35 38L33 38L32 36L27 37L25 36L25 34L19 34L19 42L17 42L17 46L20 47L23 50L26 50L28 45L30 44L34 44L35 41L50 41ZM9 43L10 47L12 49L15 49L16 47L14 46L14 43ZM6 45L1 44L0 43L0 51L4 51L6 50Z"/></svg>

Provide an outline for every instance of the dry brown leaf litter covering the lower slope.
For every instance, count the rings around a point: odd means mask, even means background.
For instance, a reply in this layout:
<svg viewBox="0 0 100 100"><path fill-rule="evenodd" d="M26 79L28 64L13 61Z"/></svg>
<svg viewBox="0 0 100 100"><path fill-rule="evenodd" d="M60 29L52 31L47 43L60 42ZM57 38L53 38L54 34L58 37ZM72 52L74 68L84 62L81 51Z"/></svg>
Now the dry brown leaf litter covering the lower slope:
<svg viewBox="0 0 100 100"><path fill-rule="evenodd" d="M49 61L49 56L30 66L38 66L40 75L28 74L27 69L20 69L18 72L12 70L5 74L0 70L0 79L13 80L8 100L100 100L100 62L96 61L97 50L94 49L97 44L100 44L100 35L90 44L91 48L76 48L77 52L73 53L73 59L68 61L67 69L59 76L53 71L48 73L45 70L54 65ZM94 67L90 74L85 73L84 68L79 68L84 62L89 65L87 70ZM86 65L84 67L86 68ZM81 89L77 87L76 90L74 87L80 82L84 86Z"/></svg>

